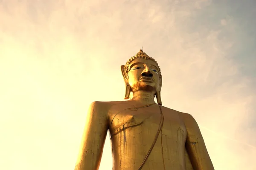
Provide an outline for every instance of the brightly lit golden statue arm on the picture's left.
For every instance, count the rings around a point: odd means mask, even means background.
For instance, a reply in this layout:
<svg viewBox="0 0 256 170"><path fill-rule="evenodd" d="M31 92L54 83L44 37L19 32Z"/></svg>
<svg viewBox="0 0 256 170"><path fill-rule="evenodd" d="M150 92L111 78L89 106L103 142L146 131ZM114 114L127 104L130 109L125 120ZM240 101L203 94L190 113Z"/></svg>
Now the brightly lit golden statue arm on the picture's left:
<svg viewBox="0 0 256 170"><path fill-rule="evenodd" d="M101 104L90 105L75 170L99 169L108 131L108 116Z"/></svg>

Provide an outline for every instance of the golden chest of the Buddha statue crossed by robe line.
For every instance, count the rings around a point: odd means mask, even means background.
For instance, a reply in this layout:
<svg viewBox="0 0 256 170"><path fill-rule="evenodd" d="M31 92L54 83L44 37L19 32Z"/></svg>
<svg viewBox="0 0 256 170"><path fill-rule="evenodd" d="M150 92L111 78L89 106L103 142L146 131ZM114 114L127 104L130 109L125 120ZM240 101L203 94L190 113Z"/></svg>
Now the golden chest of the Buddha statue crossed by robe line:
<svg viewBox="0 0 256 170"><path fill-rule="evenodd" d="M162 106L161 110L163 127L157 138L161 122L158 105L146 108L123 107L110 114L112 153L115 160L129 165L129 168L134 164L139 166L156 140L146 166L162 166L163 162L172 166L185 166L186 127L177 111Z"/></svg>

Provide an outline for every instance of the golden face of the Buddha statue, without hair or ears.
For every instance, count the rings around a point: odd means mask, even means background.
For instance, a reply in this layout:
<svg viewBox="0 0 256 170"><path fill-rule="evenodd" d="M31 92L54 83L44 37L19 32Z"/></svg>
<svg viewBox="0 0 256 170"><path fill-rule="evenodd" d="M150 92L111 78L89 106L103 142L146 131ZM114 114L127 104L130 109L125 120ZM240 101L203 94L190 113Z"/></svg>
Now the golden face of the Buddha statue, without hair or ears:
<svg viewBox="0 0 256 170"><path fill-rule="evenodd" d="M154 91L160 87L160 71L150 59L134 59L128 67L128 83L131 91Z"/></svg>

